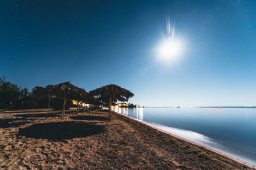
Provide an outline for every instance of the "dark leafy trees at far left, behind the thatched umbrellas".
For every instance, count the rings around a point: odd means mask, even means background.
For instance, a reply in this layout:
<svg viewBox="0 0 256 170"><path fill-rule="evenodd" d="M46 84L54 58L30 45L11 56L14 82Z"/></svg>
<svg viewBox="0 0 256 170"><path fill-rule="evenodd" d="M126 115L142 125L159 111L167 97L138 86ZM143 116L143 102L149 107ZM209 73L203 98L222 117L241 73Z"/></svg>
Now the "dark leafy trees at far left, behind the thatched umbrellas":
<svg viewBox="0 0 256 170"><path fill-rule="evenodd" d="M31 92L28 89L0 78L0 109L35 109L54 108L61 109L63 99L59 95L49 93L49 86L34 87ZM72 101L68 100L66 108L72 107Z"/></svg>

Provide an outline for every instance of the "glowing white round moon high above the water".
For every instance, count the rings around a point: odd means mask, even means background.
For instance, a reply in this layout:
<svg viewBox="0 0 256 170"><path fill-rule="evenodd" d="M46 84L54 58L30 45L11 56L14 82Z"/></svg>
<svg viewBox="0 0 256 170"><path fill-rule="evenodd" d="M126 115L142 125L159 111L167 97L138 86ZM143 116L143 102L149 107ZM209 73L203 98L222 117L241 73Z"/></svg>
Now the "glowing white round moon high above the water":
<svg viewBox="0 0 256 170"><path fill-rule="evenodd" d="M164 59L174 59L183 52L183 45L179 39L168 38L157 48L159 57Z"/></svg>

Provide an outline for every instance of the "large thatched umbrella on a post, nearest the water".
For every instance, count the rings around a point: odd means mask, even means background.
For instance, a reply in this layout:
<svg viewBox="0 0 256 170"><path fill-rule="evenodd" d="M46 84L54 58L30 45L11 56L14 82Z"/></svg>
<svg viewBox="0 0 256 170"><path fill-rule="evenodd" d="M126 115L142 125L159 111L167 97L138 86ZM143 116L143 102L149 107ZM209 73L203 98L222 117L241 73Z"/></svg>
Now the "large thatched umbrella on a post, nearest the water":
<svg viewBox="0 0 256 170"><path fill-rule="evenodd" d="M100 87L98 89L90 91L92 96L97 96L102 102L109 103L108 113L109 113L109 120L111 119L111 106L113 102L117 101L128 101L128 99L134 94L129 90L123 89L118 85L106 85L104 87Z"/></svg>

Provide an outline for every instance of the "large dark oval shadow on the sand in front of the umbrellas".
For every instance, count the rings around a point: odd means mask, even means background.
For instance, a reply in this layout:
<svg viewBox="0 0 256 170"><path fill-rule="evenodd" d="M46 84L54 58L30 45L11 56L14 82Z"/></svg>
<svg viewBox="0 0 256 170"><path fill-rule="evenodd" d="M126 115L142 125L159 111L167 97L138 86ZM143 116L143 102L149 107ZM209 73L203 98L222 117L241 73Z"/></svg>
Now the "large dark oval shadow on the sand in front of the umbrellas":
<svg viewBox="0 0 256 170"><path fill-rule="evenodd" d="M33 124L19 130L17 136L26 138L51 139L61 141L72 138L84 138L104 132L104 126L84 122L52 122Z"/></svg>

